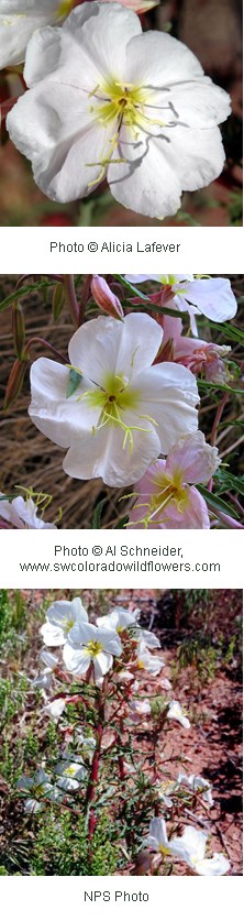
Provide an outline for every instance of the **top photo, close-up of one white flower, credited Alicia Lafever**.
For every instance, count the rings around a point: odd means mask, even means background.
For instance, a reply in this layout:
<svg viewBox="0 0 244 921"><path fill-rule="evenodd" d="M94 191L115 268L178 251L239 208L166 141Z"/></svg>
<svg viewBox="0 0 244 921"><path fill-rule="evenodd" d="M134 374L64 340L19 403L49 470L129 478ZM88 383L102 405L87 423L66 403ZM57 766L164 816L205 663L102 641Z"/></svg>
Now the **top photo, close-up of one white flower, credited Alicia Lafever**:
<svg viewBox="0 0 244 921"><path fill-rule="evenodd" d="M242 226L242 0L0 0L0 224Z"/></svg>

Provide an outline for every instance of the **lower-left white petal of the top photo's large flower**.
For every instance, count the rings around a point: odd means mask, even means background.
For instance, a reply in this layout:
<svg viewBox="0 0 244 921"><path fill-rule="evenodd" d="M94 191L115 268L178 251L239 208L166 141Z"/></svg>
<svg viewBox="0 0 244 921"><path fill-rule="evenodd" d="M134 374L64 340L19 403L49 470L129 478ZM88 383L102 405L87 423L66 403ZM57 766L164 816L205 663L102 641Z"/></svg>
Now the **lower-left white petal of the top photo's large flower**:
<svg viewBox="0 0 244 921"><path fill-rule="evenodd" d="M93 120L87 92L42 80L19 98L7 122L15 147L32 162L36 185L54 201L75 201L100 182L117 125Z"/></svg>

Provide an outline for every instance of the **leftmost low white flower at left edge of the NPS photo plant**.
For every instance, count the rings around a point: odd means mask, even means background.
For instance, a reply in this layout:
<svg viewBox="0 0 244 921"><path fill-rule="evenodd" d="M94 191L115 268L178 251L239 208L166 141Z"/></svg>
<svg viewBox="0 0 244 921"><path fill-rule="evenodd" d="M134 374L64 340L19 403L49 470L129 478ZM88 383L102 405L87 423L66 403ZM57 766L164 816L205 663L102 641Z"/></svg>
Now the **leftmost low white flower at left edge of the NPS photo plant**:
<svg viewBox="0 0 244 921"><path fill-rule="evenodd" d="M57 790L53 783L51 783L48 774L46 774L42 768L36 770L33 777L22 775L22 777L18 780L16 786L23 793L31 792L33 794L33 798L31 797L25 800L25 812L41 812L46 807L45 800L56 802L62 799L60 791Z"/></svg>

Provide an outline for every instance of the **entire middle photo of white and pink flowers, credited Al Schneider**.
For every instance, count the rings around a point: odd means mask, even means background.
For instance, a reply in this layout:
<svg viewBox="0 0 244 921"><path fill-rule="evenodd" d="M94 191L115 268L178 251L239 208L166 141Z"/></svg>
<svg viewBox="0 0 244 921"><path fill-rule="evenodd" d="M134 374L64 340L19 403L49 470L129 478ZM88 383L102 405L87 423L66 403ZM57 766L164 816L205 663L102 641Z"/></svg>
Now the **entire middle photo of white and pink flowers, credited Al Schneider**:
<svg viewBox="0 0 244 921"><path fill-rule="evenodd" d="M242 275L1 275L1 528L242 528Z"/></svg>

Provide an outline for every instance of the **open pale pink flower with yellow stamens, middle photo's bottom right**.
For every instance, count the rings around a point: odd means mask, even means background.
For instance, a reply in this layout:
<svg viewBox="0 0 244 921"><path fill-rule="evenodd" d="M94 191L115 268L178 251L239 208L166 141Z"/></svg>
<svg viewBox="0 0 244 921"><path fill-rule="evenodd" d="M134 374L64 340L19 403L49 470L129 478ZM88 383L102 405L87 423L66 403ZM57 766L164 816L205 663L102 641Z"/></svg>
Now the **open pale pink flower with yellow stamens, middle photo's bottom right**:
<svg viewBox="0 0 244 921"><path fill-rule="evenodd" d="M207 503L193 484L208 483L218 467L218 450L207 445L201 431L180 438L167 460L152 463L135 484L130 526L209 528Z"/></svg>

